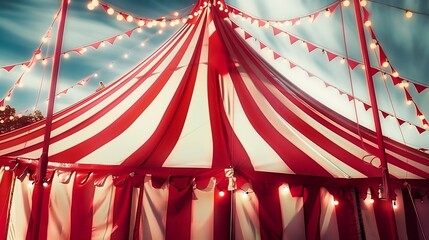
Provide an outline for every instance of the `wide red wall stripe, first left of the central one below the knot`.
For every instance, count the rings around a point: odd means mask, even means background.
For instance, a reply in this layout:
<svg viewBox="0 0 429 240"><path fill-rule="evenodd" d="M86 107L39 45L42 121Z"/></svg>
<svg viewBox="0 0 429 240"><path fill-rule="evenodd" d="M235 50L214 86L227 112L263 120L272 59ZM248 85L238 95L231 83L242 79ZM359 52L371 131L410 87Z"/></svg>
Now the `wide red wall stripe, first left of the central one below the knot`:
<svg viewBox="0 0 429 240"><path fill-rule="evenodd" d="M190 239L192 227L192 187L188 185L185 188L178 188L174 186L174 181L175 179L172 179L168 188L165 239Z"/></svg>

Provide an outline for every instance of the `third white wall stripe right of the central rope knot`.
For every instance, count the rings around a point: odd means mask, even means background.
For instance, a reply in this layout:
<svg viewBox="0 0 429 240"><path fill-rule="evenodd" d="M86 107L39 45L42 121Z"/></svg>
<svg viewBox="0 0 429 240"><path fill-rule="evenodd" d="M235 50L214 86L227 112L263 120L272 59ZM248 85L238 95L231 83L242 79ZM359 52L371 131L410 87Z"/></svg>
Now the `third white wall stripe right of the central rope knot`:
<svg viewBox="0 0 429 240"><path fill-rule="evenodd" d="M335 213L335 205L333 204L334 196L332 196L325 188L320 189L320 239L334 240L340 239L338 234L337 215ZM341 203L339 203L341 204Z"/></svg>

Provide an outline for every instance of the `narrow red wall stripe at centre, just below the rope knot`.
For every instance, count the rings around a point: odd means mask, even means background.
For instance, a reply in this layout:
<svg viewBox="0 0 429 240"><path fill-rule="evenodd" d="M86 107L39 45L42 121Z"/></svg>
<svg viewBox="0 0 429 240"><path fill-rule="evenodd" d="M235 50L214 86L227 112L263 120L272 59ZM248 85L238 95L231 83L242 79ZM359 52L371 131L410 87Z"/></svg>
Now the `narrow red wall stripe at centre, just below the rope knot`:
<svg viewBox="0 0 429 240"><path fill-rule="evenodd" d="M222 189L215 188L213 211L213 239L230 239L231 192L223 189L225 195L219 196Z"/></svg>

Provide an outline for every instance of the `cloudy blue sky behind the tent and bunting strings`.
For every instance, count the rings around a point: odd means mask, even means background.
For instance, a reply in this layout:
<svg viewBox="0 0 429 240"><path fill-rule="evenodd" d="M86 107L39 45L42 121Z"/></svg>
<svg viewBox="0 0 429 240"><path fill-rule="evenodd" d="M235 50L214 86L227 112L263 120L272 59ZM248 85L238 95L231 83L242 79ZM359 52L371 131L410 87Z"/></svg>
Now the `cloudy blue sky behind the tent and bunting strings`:
<svg viewBox="0 0 429 240"><path fill-rule="evenodd" d="M115 6L123 12L144 18L168 17L177 10L189 10L189 7L194 4L193 0L108 0L102 2ZM323 9L334 1L230 0L228 2L256 17L283 20L306 16L308 13ZM87 3L86 0L72 0L67 15L63 51L76 49L124 33L136 26L135 22L117 21L114 16L106 14L101 7L89 11ZM42 37L51 25L59 5L60 1L58 0L0 1L0 36L2 36L0 38L0 66L25 62L31 58L33 51L37 49ZM429 86L429 78L426 76L426 69L429 66L429 47L426 46L429 40L429 28L427 27L429 2L426 0L376 0L369 1L367 8L371 12L370 19L373 29L391 64L406 79ZM405 19L403 9L415 12L413 18ZM182 12L183 14L186 13L186 11ZM417 14L417 12L423 14ZM361 53L352 7L344 8L343 14L348 54L351 58L360 60ZM233 21L236 20L233 19ZM329 82L345 92L350 93L352 91L347 67L339 64L338 59L328 62L326 56L321 54L319 49L308 53L305 48L299 46L300 44L291 45L287 38L273 36L270 29L261 29L257 24L250 24L249 21L240 20L238 23L241 28L246 29L259 41L269 44L270 49L302 66L306 66L307 70L315 73L323 81ZM57 25L54 25L53 37L55 37L56 28ZM329 18L320 14L313 23L302 21L300 25L282 26L281 28L325 49L342 55L345 54L339 9ZM167 27L163 34L157 34L158 27L151 29L144 27L142 33L134 31L131 38L124 36L122 40L117 39L114 45L107 44L106 47L98 50L88 48L88 51L83 55L70 53L69 59L62 59L57 92L75 86L78 81L90 74L97 73L98 77L93 78L84 87L73 87L67 94L56 99L55 110L64 109L89 96L95 91L99 81L106 84L114 81L153 52L177 29L179 29L178 26ZM142 42L145 42L144 47L141 46ZM255 40L249 40L248 43L250 46L257 44ZM48 45L49 48L47 48ZM43 53L51 55L53 49L54 38L43 48ZM330 105L329 107L342 112L351 119L355 118L353 105L345 101L344 96L336 94L338 96L332 99L335 91L321 88L320 81L317 82L308 78L297 70L288 69L284 61L273 61L270 59L272 53L267 50L260 51L260 53L291 81L319 98L321 102ZM128 54L127 58L124 57L125 54ZM377 65L375 55L370 52L370 56L373 65ZM113 68L109 67L110 64L113 64ZM50 71L50 61L46 66L42 66L40 62L37 63L30 72L24 75L23 86L15 89L7 104L14 106L18 112L32 109L34 106L45 112ZM6 95L22 72L20 66L15 67L10 72L0 69L0 99ZM350 74L353 77L355 96L369 103L363 71L355 69ZM405 104L403 91L390 82L385 84L379 78L375 77L374 80L380 108L390 114L397 114L399 118L410 123L422 126L421 120L415 116L415 109ZM429 90L420 94L417 94L414 89L410 89L410 92L413 94L413 100L429 117L429 104L427 104ZM344 103L340 104L342 101ZM365 112L358 109L358 115L360 123L371 127L370 111ZM429 134L427 132L416 135L415 129L402 129L404 127L401 127L401 133L395 123L388 121L390 120L386 120L383 124L387 131L394 129L391 133L393 138L401 140L401 134L404 134L406 142L413 142L413 145L428 145L429 147Z"/></svg>

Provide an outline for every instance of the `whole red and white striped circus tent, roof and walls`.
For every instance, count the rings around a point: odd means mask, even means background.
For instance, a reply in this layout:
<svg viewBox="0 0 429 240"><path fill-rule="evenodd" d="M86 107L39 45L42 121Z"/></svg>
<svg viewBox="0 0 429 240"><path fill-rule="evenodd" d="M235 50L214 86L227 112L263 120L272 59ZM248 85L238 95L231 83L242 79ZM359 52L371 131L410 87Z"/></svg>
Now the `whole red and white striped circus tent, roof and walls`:
<svg viewBox="0 0 429 240"><path fill-rule="evenodd" d="M310 16L343 11L343 2ZM351 5L363 25L368 10ZM0 135L1 236L424 239L429 112L417 95L427 94L427 85L398 76L393 64L387 69L368 56L342 56L277 24L224 1L200 0L180 29L117 80L56 112L51 123ZM327 62L345 59L345 72L362 75L363 84L364 73L388 75L420 122L323 81L270 47L255 33L259 28L320 51ZM365 31L369 42L376 38ZM388 56L377 47L383 64ZM361 65L365 72L356 69ZM375 123L325 105L317 88L305 89L311 79L336 95L331 103L343 98L341 106L356 114L376 113ZM420 145L389 135L392 119L408 124L404 132L413 131ZM47 143L44 173L39 162Z"/></svg>

